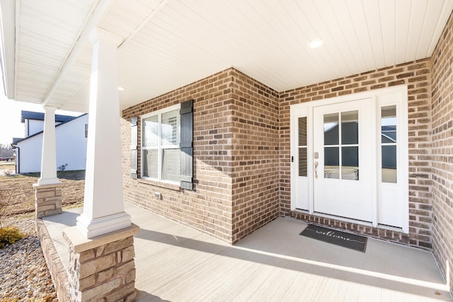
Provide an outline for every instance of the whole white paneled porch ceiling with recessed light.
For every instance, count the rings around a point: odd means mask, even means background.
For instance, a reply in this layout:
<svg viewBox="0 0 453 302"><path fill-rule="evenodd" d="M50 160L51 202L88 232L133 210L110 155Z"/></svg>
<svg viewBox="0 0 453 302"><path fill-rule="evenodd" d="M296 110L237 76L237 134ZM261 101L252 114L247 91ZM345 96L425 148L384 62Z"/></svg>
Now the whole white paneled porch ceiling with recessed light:
<svg viewBox="0 0 453 302"><path fill-rule="evenodd" d="M234 66L276 91L430 57L453 0L0 0L8 98L87 112L93 26L121 108ZM322 38L324 45L309 48Z"/></svg>

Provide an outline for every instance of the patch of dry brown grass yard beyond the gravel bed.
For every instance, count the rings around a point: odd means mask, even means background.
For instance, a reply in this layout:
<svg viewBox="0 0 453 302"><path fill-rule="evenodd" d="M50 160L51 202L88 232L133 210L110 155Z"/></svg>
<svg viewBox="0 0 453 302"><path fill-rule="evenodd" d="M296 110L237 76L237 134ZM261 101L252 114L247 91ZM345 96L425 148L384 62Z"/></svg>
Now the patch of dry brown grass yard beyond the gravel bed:
<svg viewBox="0 0 453 302"><path fill-rule="evenodd" d="M57 176L64 183L62 187L63 207L83 204L85 170L62 171L58 172ZM33 190L33 184L38 181L39 177L39 173L0 176L1 196L9 196L11 194L11 201L6 209L5 216L35 211L35 190Z"/></svg>

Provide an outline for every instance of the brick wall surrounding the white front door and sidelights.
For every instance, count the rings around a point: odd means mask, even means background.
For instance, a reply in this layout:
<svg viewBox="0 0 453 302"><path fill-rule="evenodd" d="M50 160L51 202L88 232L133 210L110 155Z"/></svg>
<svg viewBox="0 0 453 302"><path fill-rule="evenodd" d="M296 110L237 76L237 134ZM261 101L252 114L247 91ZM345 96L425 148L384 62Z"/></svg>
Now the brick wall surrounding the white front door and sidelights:
<svg viewBox="0 0 453 302"><path fill-rule="evenodd" d="M289 106L401 84L408 85L409 236L396 231L365 227L355 223L345 223L291 211ZM431 248L430 102L430 59L390 66L280 93L281 215L345 228L399 243Z"/></svg>

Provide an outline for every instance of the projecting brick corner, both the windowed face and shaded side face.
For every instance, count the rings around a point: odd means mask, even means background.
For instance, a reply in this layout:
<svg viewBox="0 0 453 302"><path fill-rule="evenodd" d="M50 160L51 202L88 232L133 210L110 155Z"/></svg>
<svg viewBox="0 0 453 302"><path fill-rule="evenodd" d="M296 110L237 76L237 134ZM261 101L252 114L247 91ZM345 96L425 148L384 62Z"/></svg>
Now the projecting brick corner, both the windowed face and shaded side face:
<svg viewBox="0 0 453 302"><path fill-rule="evenodd" d="M180 192L177 185L133 180L130 118L190 98L195 190ZM278 93L235 69L124 110L125 200L229 243L243 238L279 215L278 112ZM140 141L140 124L138 129ZM163 198L154 198L154 192Z"/></svg>

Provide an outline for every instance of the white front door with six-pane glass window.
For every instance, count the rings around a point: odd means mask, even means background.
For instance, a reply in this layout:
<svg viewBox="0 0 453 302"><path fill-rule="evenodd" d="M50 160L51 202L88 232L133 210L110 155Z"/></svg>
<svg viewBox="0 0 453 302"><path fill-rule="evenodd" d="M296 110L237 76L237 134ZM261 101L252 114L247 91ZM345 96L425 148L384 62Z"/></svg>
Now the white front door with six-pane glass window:
<svg viewBox="0 0 453 302"><path fill-rule="evenodd" d="M371 98L313 108L314 211L372 221Z"/></svg>

